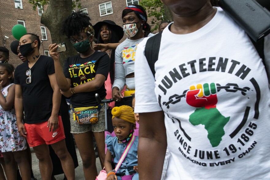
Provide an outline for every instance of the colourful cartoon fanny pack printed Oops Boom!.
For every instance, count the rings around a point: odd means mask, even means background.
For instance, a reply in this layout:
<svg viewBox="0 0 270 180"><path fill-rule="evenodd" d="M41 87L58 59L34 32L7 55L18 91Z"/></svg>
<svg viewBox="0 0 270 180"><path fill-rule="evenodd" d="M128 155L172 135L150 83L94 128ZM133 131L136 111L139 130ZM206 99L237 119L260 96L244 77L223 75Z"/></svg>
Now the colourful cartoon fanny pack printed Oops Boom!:
<svg viewBox="0 0 270 180"><path fill-rule="evenodd" d="M98 122L98 113L104 104L92 107L74 108L73 119L78 124L92 124Z"/></svg>

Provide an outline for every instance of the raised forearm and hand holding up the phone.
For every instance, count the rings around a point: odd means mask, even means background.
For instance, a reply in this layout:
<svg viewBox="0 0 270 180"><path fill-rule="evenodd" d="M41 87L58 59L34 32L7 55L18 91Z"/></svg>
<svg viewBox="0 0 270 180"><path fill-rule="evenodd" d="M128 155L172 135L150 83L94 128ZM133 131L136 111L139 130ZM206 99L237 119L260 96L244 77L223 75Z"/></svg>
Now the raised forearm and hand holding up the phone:
<svg viewBox="0 0 270 180"><path fill-rule="evenodd" d="M63 73L62 66L59 61L59 53L55 52L56 51L56 44L50 44L49 45L49 54L52 57L54 61L54 68L55 68L55 75L56 75L56 82L62 91L67 91L69 90L71 80L67 79Z"/></svg>

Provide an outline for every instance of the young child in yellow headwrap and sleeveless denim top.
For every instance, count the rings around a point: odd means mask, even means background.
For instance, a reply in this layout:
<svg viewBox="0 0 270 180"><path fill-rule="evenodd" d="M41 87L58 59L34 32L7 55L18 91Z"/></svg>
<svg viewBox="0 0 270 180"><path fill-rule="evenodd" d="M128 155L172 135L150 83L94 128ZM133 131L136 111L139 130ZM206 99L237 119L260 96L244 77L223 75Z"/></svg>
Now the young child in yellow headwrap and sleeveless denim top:
<svg viewBox="0 0 270 180"><path fill-rule="evenodd" d="M112 115L112 123L116 137L107 135L105 140L105 143L107 144L107 148L109 150L106 153L104 163L105 170L107 172L106 180L138 180L139 174L135 170L133 170L133 167L138 165L137 136L119 169L114 172L112 167L112 159L114 159L114 164L117 165L119 159L125 151L125 147L129 143L129 140L131 139L131 136L134 132L134 129L136 127L134 112L130 106L122 105L120 107L114 107L112 109Z"/></svg>

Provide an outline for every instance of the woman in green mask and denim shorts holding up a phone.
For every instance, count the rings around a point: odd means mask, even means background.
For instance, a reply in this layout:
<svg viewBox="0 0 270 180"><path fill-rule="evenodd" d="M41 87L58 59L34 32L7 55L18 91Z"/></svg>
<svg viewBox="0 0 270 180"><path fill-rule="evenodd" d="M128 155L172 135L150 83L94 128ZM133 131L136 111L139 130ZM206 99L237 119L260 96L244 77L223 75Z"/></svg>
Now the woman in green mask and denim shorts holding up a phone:
<svg viewBox="0 0 270 180"><path fill-rule="evenodd" d="M56 44L49 46L49 53L54 60L57 84L62 94L70 97L72 105L71 133L74 135L83 161L85 179L92 180L98 175L93 135L97 141L101 166L104 166L105 109L104 106L97 103L95 94L98 93L102 99L106 96L104 81L109 73L110 58L106 52L93 50L94 29L89 21L87 13L77 11L68 16L62 24L61 32L70 39L73 47L79 52L78 55L67 58L64 64L64 73L59 62L59 54L56 52ZM91 109L92 107L96 108ZM87 110L83 111L77 108ZM97 111L99 113L91 113ZM94 117L95 120L92 121L92 116L97 114L98 121L94 123L97 117ZM87 118L91 118L92 124L82 124L86 122L83 120ZM88 119L87 122L90 121Z"/></svg>

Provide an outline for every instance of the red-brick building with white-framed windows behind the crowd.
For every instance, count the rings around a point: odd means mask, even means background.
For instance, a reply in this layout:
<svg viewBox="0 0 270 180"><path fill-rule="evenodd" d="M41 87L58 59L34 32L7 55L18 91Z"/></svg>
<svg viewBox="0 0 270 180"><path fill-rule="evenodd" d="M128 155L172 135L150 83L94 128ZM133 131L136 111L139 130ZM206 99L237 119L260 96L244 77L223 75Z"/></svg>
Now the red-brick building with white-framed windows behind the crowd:
<svg viewBox="0 0 270 180"><path fill-rule="evenodd" d="M139 0L81 0L81 10L87 12L91 18L91 23L95 25L98 21L112 20L117 25L122 26L122 10L128 5L138 4ZM46 10L46 7L44 7ZM78 10L75 8L74 11ZM24 25L29 33L37 34L43 39L40 47L42 55L48 54L48 46L52 43L51 34L47 27L41 24L43 10L37 7L36 11L28 0L6 0L0 2L0 46L6 46L10 50L10 43L15 40L11 30L14 25ZM148 20L150 22L150 20ZM9 37L6 38L5 36ZM123 37L125 40L126 36ZM10 63L15 67L21 64L21 60L10 51Z"/></svg>

